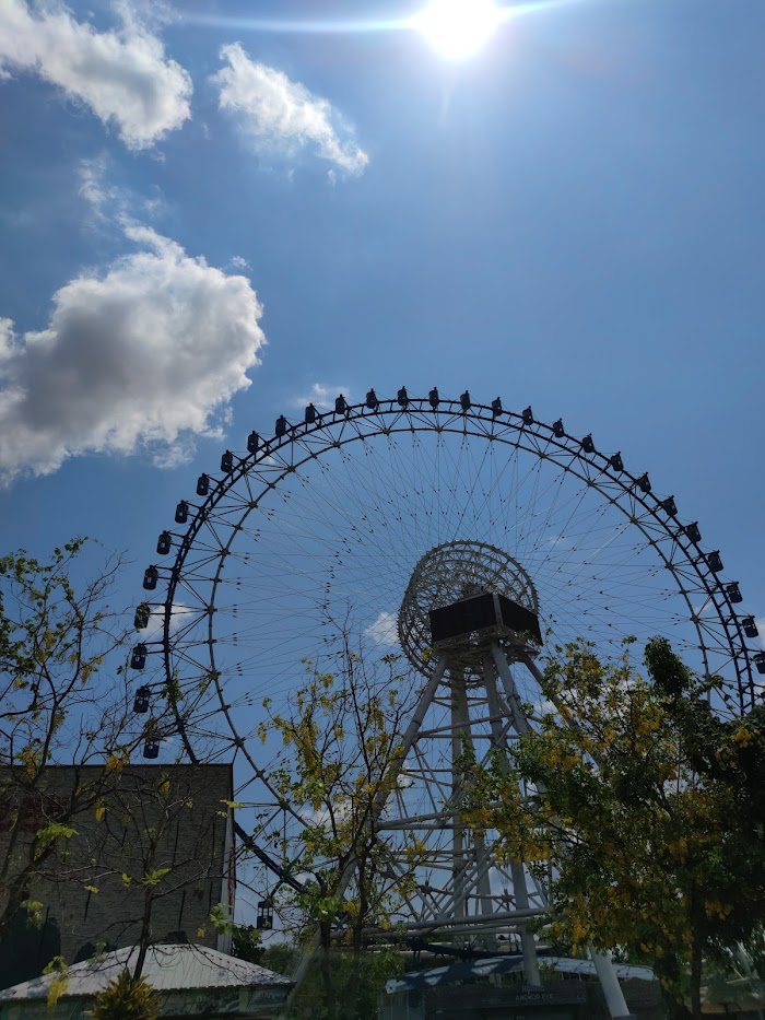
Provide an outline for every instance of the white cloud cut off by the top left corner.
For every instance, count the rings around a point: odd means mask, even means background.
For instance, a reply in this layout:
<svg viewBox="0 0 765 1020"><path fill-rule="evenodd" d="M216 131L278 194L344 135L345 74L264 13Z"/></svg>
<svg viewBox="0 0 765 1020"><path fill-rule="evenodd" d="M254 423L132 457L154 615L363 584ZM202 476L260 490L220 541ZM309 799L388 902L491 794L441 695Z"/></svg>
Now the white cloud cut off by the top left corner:
<svg viewBox="0 0 765 1020"><path fill-rule="evenodd" d="M153 145L190 116L191 79L134 16L97 32L63 7L33 13L24 0L0 0L0 66L62 89L114 121L131 149Z"/></svg>

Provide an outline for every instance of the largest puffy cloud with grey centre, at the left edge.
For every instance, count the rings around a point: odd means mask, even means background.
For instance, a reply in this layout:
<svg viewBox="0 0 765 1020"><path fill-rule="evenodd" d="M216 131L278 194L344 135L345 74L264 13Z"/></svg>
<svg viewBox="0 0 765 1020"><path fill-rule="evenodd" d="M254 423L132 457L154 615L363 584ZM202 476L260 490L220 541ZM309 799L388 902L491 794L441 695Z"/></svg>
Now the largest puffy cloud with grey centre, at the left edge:
<svg viewBox="0 0 765 1020"><path fill-rule="evenodd" d="M176 464L250 385L264 337L249 280L148 227L126 233L140 249L57 291L46 329L21 337L0 319L5 482L89 452L149 448Z"/></svg>

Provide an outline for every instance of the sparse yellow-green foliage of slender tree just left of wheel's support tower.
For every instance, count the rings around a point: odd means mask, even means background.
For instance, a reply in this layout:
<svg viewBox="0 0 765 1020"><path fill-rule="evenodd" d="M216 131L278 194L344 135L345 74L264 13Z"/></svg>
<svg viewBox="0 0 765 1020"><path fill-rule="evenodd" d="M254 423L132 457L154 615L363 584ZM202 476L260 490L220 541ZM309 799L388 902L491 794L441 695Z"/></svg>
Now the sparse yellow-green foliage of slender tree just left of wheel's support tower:
<svg viewBox="0 0 765 1020"><path fill-rule="evenodd" d="M407 699L399 694L398 659L365 666L348 643L336 672L306 660L307 683L283 712L264 707L263 741L274 737L283 753L269 782L284 805L289 828L274 845L297 872L308 875L302 893L282 892L276 907L297 930L318 929L329 949L341 927L360 950L364 929L386 928L421 851L405 836L395 874L378 839L377 820L396 788Z"/></svg>

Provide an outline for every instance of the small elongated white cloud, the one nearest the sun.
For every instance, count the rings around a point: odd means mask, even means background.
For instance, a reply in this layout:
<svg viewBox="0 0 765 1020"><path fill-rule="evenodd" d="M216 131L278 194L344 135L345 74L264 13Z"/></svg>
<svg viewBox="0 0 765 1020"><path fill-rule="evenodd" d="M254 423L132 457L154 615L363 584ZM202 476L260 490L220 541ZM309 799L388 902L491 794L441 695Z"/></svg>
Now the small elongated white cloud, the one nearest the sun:
<svg viewBox="0 0 765 1020"><path fill-rule="evenodd" d="M239 43L224 46L221 59L227 67L212 78L221 109L237 117L257 150L290 159L310 148L348 174L363 172L369 157L327 99L276 68L250 60Z"/></svg>

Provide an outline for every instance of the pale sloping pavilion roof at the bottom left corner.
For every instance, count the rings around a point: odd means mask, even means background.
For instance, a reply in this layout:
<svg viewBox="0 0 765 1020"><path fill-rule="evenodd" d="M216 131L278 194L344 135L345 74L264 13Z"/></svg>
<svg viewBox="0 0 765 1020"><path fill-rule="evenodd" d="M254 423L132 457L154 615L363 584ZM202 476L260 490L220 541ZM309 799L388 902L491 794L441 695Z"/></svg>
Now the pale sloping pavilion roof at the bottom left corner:
<svg viewBox="0 0 765 1020"><path fill-rule="evenodd" d="M116 980L126 964L136 963L138 949L127 947L107 953L99 961L75 963L67 971L66 996L91 996ZM42 999L55 974L22 982L0 992L0 1004L23 999ZM143 966L143 977L157 992L179 992L189 988L273 988L291 987L293 982L255 963L227 957L204 946L151 946Z"/></svg>

